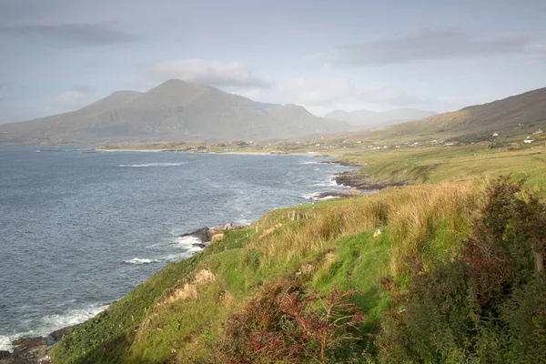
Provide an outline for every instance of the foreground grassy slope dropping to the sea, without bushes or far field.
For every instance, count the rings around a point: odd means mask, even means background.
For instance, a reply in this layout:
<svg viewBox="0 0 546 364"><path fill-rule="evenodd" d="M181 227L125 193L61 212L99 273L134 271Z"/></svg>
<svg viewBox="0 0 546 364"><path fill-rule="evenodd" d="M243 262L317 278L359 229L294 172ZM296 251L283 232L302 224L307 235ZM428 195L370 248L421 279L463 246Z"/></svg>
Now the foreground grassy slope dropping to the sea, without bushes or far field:
<svg viewBox="0 0 546 364"><path fill-rule="evenodd" d="M274 210L171 264L56 346L59 363L214 362L222 324L264 282L299 275L309 288L358 288L374 332L386 303L378 277L407 269L414 252L435 257L465 236L478 201L471 184L388 188L378 194ZM294 213L298 220L292 221ZM264 231L272 229L267 235ZM382 230L378 238L372 235ZM257 232L258 230L258 232ZM203 272L210 273L203 279ZM146 308L146 309L145 309Z"/></svg>

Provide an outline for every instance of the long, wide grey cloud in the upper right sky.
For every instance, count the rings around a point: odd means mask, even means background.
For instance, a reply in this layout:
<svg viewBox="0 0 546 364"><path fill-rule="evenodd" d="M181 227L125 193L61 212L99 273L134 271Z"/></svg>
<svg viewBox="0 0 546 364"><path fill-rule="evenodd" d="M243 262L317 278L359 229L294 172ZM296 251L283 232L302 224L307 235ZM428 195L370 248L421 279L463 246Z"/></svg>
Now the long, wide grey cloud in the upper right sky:
<svg viewBox="0 0 546 364"><path fill-rule="evenodd" d="M330 66L384 66L426 59L544 54L529 35L469 35L457 28L339 46L313 58Z"/></svg>

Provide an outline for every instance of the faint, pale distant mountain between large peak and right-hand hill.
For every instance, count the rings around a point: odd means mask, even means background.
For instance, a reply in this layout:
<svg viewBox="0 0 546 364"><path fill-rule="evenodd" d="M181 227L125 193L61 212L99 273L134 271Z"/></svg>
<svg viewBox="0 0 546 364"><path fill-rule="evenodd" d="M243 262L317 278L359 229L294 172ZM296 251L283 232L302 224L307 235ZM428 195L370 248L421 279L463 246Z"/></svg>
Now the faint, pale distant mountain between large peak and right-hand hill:
<svg viewBox="0 0 546 364"><path fill-rule="evenodd" d="M399 124L404 121L421 120L435 114L436 113L433 111L419 110L416 108L398 108L381 112L356 110L350 113L343 110L335 110L324 117L333 120L346 121L354 126L377 128Z"/></svg>

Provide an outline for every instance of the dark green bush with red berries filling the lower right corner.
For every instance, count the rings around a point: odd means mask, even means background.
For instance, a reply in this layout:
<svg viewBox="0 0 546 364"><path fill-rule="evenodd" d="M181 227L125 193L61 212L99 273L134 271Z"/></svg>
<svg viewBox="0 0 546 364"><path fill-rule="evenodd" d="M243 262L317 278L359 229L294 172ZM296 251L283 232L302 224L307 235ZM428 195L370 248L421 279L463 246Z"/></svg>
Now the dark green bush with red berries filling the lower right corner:
<svg viewBox="0 0 546 364"><path fill-rule="evenodd" d="M429 272L410 257L405 289L384 278L392 308L379 336L386 362L546 361L546 206L522 182L486 191L470 238Z"/></svg>

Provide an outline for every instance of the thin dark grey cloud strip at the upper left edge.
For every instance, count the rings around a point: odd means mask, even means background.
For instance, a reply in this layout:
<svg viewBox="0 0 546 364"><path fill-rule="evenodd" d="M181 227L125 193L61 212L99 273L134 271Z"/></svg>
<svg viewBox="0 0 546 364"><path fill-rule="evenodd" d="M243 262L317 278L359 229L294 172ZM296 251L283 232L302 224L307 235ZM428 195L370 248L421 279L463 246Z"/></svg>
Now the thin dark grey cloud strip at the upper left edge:
<svg viewBox="0 0 546 364"><path fill-rule="evenodd" d="M135 40L134 35L110 28L106 24L9 25L0 33L13 35L41 35L82 45L115 45Z"/></svg>

